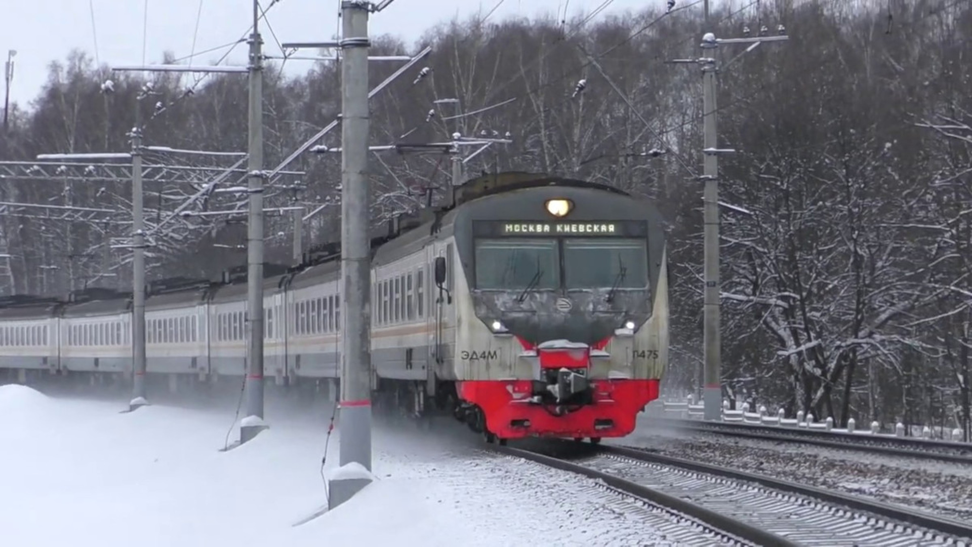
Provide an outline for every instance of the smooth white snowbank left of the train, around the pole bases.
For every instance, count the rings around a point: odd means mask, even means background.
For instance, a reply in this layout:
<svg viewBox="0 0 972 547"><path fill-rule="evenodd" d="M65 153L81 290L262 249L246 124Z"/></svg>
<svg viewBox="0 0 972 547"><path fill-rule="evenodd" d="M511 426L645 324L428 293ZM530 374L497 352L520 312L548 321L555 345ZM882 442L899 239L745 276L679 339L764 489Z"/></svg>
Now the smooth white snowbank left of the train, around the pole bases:
<svg viewBox="0 0 972 547"><path fill-rule="evenodd" d="M268 402L270 429L229 452L234 405L51 398L0 386L0 544L11 547L667 545L617 496L410 426L375 428L378 480L326 505L330 407ZM232 429L232 437L238 427ZM338 460L337 430L327 467ZM635 506L635 503L628 502Z"/></svg>

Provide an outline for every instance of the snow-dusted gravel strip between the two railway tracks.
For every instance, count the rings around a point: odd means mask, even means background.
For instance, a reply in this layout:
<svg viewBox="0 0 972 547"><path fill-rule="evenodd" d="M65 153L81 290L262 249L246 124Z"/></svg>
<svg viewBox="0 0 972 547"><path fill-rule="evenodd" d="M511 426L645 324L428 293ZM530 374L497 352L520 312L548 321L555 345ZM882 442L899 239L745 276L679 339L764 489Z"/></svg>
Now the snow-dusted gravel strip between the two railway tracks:
<svg viewBox="0 0 972 547"><path fill-rule="evenodd" d="M605 442L972 518L972 467L960 463L677 430L645 415L631 436Z"/></svg>

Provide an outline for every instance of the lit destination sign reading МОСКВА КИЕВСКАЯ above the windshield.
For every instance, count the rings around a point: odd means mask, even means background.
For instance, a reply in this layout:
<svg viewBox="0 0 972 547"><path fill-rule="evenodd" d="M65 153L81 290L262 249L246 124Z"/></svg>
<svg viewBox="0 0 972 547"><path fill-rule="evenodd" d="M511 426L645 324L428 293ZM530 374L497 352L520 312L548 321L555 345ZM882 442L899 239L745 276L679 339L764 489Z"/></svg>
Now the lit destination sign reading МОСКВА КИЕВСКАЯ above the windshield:
<svg viewBox="0 0 972 547"><path fill-rule="evenodd" d="M645 237L642 220L474 220L474 237Z"/></svg>

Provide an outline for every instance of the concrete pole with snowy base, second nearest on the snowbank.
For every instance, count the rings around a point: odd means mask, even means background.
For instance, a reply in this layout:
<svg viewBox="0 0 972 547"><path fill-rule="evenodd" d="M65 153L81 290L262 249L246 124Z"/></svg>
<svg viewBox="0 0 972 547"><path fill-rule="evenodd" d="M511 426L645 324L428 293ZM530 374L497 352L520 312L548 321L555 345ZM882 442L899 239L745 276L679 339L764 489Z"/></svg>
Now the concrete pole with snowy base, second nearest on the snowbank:
<svg viewBox="0 0 972 547"><path fill-rule="evenodd" d="M248 164L250 211L247 218L247 420L240 427L245 443L265 428L263 423L263 66L260 7L253 3L250 35Z"/></svg>

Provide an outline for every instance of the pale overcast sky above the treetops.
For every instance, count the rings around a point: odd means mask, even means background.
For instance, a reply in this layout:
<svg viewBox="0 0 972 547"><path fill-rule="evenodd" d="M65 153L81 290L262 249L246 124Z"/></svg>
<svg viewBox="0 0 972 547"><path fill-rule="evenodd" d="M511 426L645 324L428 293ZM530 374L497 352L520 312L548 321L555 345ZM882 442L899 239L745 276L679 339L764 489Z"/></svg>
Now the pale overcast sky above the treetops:
<svg viewBox="0 0 972 547"><path fill-rule="evenodd" d="M517 15L535 17L563 12L569 16L597 9L606 0L396 0L387 10L371 18L373 34L395 34L409 45L441 21L486 14L500 7L490 20ZM269 0L262 0L266 5ZM611 0L599 18L626 10L640 10L665 0ZM143 38L148 64L161 60L162 53L190 55L200 0L4 0L0 27L0 55L17 50L11 100L27 106L47 78L47 65L64 59L73 48L96 56L102 64L142 64ZM145 6L148 24L143 32ZM93 10L92 10L93 6ZM195 52L230 43L249 27L250 0L201 0ZM329 40L337 30L338 0L281 0L267 18L282 42ZM94 14L94 29L91 14ZM279 54L273 37L262 28L269 55ZM97 48L95 49L95 42ZM208 64L225 50L200 55L196 62ZM246 45L236 47L225 64L243 64ZM309 67L308 61L291 61L288 72ZM302 64L302 66L301 66Z"/></svg>

